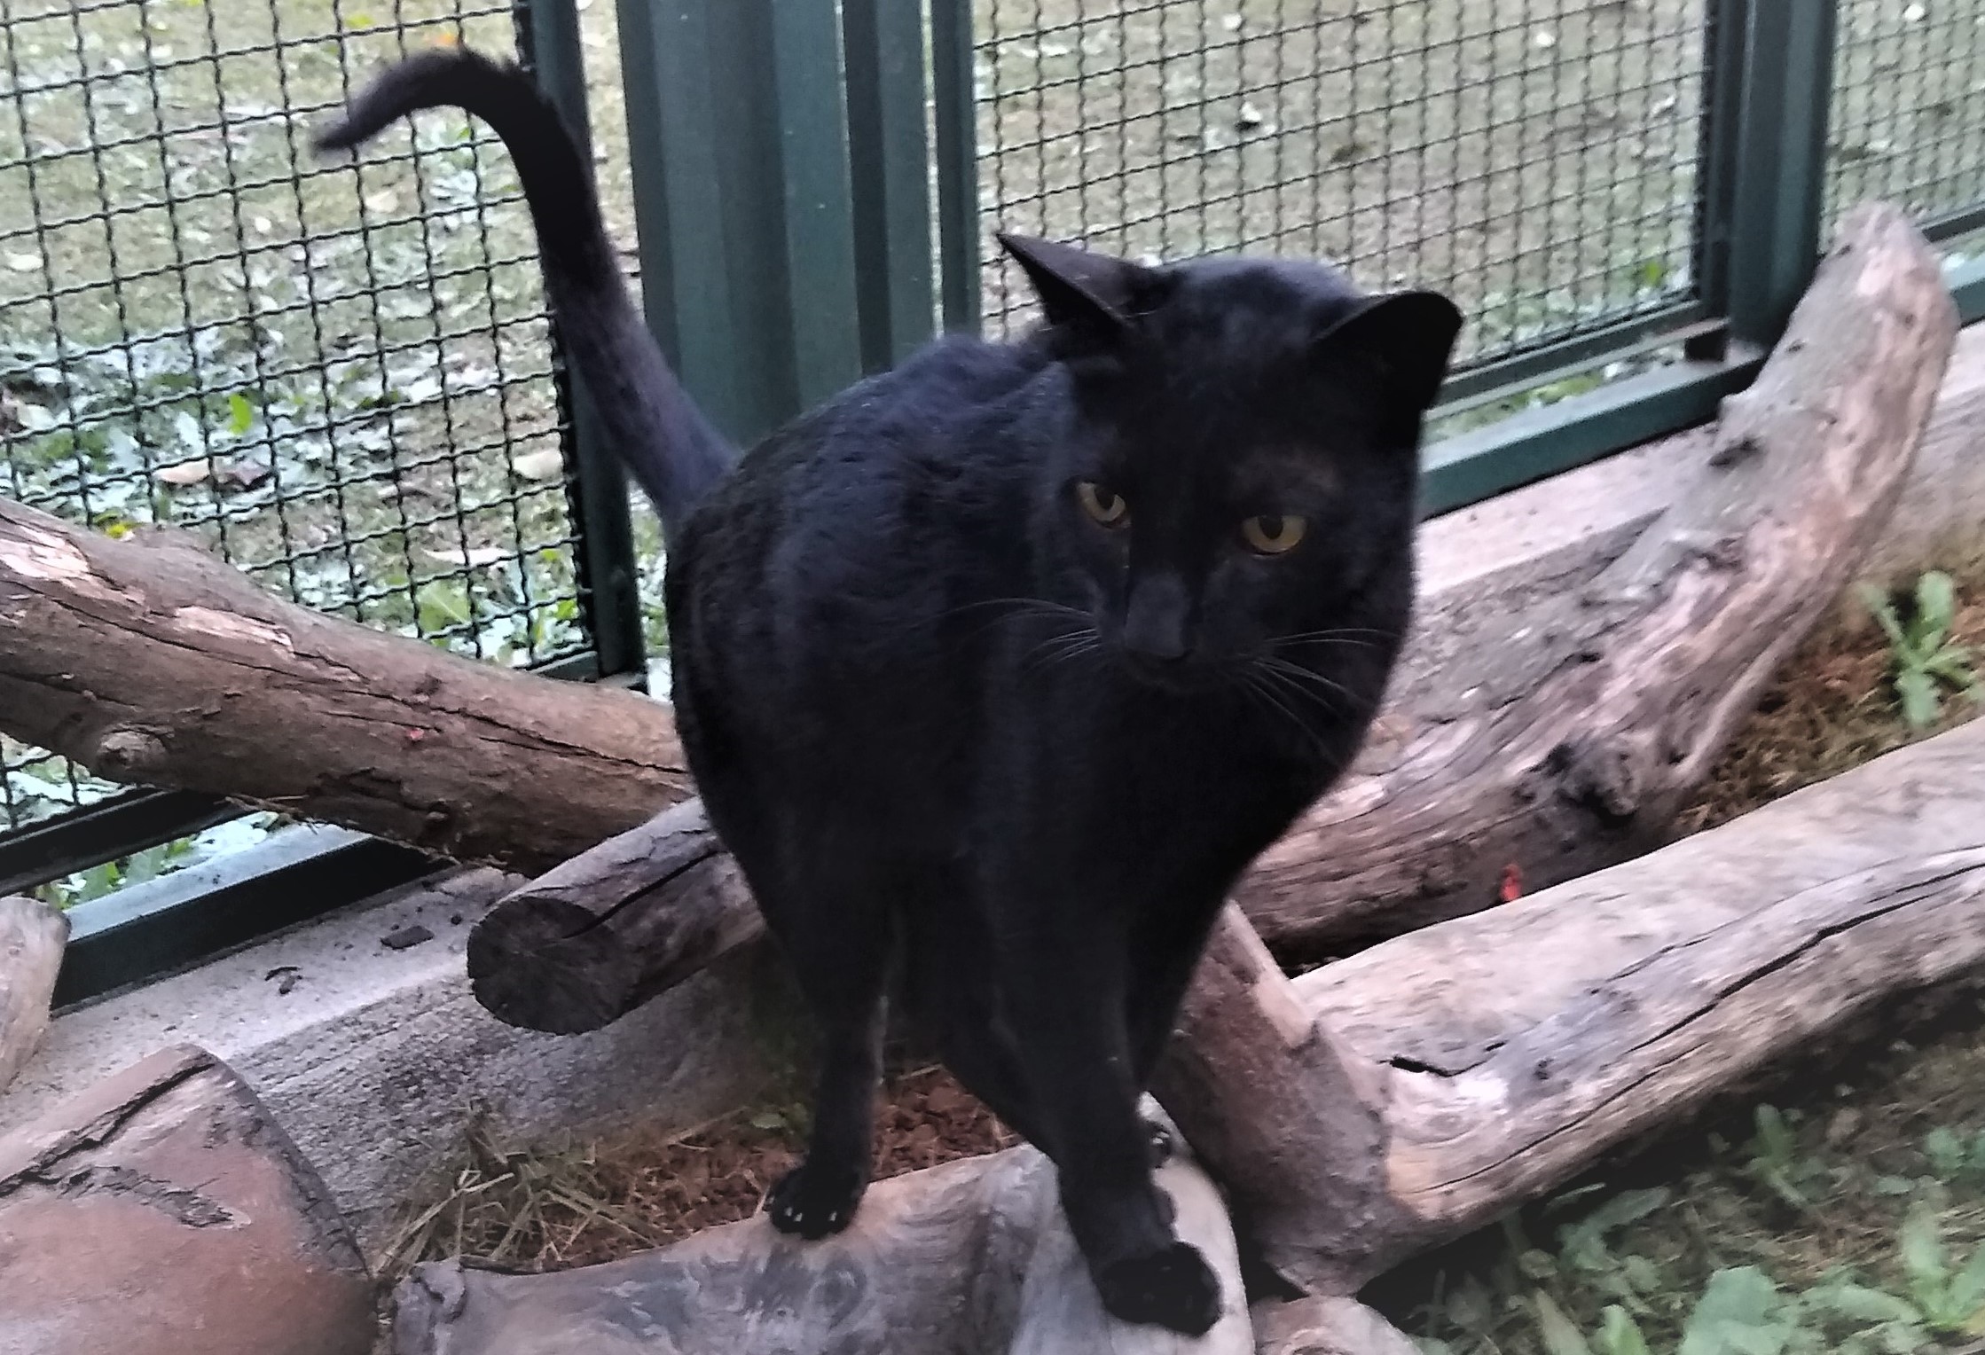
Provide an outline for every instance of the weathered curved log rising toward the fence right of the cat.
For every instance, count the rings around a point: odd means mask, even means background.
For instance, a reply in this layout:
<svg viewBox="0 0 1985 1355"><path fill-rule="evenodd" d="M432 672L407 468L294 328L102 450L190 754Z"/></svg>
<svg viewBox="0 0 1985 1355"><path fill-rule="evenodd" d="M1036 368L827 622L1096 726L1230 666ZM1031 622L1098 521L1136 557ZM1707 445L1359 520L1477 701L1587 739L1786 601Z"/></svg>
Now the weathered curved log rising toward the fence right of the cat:
<svg viewBox="0 0 1985 1355"><path fill-rule="evenodd" d="M1888 522L1955 333L1935 250L1856 208L1701 478L1586 589L1443 639L1243 881L1257 930L1342 950L1659 841Z"/></svg>

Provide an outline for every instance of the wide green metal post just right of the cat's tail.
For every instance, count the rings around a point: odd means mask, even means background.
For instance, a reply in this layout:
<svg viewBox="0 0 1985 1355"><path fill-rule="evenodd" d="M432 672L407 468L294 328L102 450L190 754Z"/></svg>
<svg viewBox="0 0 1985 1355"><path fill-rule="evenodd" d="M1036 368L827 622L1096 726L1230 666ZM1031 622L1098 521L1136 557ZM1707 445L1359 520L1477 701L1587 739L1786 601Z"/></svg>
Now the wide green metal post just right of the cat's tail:
<svg viewBox="0 0 1985 1355"><path fill-rule="evenodd" d="M861 375L836 6L621 0L649 325L752 442Z"/></svg>

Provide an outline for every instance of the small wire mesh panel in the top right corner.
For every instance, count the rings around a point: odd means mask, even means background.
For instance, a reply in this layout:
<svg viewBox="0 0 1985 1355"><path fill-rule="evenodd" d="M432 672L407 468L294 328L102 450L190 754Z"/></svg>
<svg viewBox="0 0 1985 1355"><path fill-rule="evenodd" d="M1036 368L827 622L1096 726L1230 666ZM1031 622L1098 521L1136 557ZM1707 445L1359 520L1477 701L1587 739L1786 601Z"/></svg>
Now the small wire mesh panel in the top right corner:
<svg viewBox="0 0 1985 1355"><path fill-rule="evenodd" d="M1900 202L1925 226L1977 216L1985 208L1985 8L1840 0L1830 123L1828 224L1866 198Z"/></svg>

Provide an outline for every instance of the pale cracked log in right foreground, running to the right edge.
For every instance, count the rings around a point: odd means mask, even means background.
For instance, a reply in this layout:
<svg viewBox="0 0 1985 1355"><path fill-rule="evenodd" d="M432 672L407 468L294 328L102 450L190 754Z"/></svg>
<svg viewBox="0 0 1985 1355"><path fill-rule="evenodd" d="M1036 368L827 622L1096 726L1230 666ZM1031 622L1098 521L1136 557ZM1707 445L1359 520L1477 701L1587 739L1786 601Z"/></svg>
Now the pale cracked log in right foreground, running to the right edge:
<svg viewBox="0 0 1985 1355"><path fill-rule="evenodd" d="M1235 1222L1354 1293L1985 966L1985 720L1288 980L1229 913L1159 1077Z"/></svg>

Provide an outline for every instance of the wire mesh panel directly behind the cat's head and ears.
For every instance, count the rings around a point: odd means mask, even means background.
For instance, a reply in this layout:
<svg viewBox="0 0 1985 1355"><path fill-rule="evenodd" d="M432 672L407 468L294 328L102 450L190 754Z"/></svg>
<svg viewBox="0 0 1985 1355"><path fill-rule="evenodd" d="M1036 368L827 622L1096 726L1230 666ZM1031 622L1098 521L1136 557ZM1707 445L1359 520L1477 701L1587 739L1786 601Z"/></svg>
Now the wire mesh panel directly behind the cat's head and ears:
<svg viewBox="0 0 1985 1355"><path fill-rule="evenodd" d="M1487 361L1693 296L1703 0L979 0L981 204L1413 282ZM983 256L989 329L1028 319Z"/></svg>

